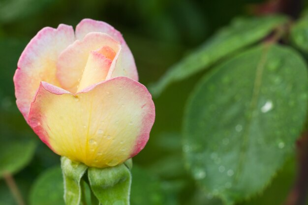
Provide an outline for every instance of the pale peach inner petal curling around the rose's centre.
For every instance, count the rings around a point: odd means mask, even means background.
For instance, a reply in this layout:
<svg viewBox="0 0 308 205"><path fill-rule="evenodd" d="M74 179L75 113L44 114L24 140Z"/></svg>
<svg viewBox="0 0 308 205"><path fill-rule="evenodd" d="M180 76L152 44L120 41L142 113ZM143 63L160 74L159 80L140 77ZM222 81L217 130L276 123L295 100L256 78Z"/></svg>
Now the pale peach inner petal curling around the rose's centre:
<svg viewBox="0 0 308 205"><path fill-rule="evenodd" d="M57 64L57 77L61 83L61 87L72 93L76 93L90 52L106 46L110 47L115 53L119 53L121 49L119 41L106 33L99 32L88 33L82 41L76 40L68 46L60 55ZM115 61L117 59L118 57L114 58Z"/></svg>

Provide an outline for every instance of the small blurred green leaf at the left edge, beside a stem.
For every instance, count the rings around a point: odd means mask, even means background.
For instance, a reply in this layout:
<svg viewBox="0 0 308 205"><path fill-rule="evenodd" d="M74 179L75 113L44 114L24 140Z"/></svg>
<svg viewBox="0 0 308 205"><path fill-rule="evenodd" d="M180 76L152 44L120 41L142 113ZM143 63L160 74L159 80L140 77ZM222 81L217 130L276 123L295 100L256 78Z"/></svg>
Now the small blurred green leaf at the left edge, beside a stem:
<svg viewBox="0 0 308 205"><path fill-rule="evenodd" d="M34 154L34 140L6 140L0 143L0 177L15 174L27 166Z"/></svg>

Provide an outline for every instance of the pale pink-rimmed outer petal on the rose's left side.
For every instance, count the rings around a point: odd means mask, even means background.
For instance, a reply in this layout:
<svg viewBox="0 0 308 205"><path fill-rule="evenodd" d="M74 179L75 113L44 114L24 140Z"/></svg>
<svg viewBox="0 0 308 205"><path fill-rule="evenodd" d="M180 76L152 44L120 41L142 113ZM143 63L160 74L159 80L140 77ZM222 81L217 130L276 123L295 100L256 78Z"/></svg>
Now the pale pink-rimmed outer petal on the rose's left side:
<svg viewBox="0 0 308 205"><path fill-rule="evenodd" d="M59 85L56 62L59 54L75 40L71 26L59 25L58 29L40 30L27 45L14 76L16 103L27 119L33 97L41 81Z"/></svg>

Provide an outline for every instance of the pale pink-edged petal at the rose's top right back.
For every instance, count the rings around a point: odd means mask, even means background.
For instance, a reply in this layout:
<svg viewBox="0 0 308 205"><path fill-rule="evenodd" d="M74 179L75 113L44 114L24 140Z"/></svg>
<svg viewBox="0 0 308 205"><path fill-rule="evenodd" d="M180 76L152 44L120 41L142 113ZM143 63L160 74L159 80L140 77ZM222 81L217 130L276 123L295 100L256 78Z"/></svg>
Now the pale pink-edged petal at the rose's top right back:
<svg viewBox="0 0 308 205"><path fill-rule="evenodd" d="M123 47L119 57L119 62L117 63L111 77L127 76L138 81L138 72L135 60L126 42L124 41L122 34L105 22L95 21L92 19L83 19L76 27L76 38L81 40L90 32L107 33L118 40Z"/></svg>

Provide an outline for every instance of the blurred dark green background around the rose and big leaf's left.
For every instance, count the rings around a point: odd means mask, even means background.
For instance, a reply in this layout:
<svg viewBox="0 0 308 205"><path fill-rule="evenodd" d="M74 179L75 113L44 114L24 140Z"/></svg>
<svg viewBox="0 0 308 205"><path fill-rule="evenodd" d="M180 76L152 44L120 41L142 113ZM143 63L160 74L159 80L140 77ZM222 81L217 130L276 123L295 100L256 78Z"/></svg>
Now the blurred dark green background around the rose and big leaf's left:
<svg viewBox="0 0 308 205"><path fill-rule="evenodd" d="M9 166L13 174L21 170L14 178L29 205L63 204L62 195L57 201L62 191L61 179L58 182L48 179L59 173L53 167L60 167L60 157L38 140L19 113L12 81L21 52L43 27L56 28L59 24L75 27L84 18L111 24L123 33L134 55L140 82L150 86L168 67L217 29L229 24L234 17L249 16L251 4L261 2L263 0L0 0L0 173ZM132 205L221 204L192 180L182 158L183 110L200 76L173 84L154 99L156 119L150 141L133 159ZM10 160L18 161L14 153L20 152L25 159L8 165ZM281 204L294 180L294 158L287 161L264 194L241 205ZM48 202L35 198L46 197L44 193L36 193L39 188L33 186L34 181L35 186L43 183L41 180L54 183ZM0 205L15 205L3 180L0 181Z"/></svg>

